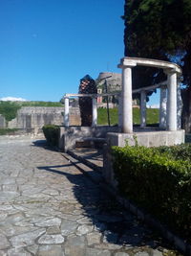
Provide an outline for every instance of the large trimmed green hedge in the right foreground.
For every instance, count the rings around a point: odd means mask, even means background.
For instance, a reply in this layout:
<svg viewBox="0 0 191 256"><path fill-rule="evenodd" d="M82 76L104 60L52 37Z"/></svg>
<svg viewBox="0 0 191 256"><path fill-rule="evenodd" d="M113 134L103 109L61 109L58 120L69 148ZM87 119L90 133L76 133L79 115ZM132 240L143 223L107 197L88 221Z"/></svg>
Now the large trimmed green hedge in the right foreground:
<svg viewBox="0 0 191 256"><path fill-rule="evenodd" d="M112 153L121 195L133 200L190 242L190 146L113 147Z"/></svg>

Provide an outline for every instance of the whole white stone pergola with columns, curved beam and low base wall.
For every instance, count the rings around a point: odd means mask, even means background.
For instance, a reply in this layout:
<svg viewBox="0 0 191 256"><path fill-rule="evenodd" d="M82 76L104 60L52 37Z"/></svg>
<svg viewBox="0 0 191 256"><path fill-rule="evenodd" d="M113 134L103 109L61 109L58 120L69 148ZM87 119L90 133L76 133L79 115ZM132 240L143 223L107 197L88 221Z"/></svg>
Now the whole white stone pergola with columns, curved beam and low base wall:
<svg viewBox="0 0 191 256"><path fill-rule="evenodd" d="M141 89L132 90L132 69L138 65L157 67L162 69L167 75L167 81L159 84L147 86ZM137 136L138 145L153 147L161 145L175 145L184 142L184 130L180 129L180 76L179 65L146 58L121 58L119 68L122 69L122 92L106 94L66 94L64 127L60 132L60 147L64 151L74 148L76 140L88 139L88 137L107 137L108 147L125 145L128 139L134 145L134 136ZM146 92L155 88L160 89L159 106L159 128L146 127ZM132 94L140 93L140 128L133 128L132 115ZM97 101L98 97L112 96L118 97L118 126L117 127L97 127ZM89 97L93 102L93 122L92 128L71 127L69 123L69 98ZM100 131L101 130L101 131ZM112 133L111 133L112 132Z"/></svg>

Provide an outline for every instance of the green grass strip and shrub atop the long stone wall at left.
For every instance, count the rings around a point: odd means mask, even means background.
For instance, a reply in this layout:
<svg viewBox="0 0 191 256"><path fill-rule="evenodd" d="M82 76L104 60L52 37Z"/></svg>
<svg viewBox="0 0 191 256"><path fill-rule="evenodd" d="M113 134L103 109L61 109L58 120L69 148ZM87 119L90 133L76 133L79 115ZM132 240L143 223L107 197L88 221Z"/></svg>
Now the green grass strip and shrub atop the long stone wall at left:
<svg viewBox="0 0 191 256"><path fill-rule="evenodd" d="M11 121L16 117L17 110L22 106L63 106L57 102L5 102L0 101L0 114L2 114L6 121Z"/></svg>

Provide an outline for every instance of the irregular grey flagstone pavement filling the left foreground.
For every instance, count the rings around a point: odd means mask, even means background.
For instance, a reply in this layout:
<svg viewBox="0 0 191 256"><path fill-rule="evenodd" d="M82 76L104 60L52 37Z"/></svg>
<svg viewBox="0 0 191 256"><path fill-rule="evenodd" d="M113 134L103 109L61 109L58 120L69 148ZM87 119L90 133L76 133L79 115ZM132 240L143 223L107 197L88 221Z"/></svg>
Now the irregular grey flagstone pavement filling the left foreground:
<svg viewBox="0 0 191 256"><path fill-rule="evenodd" d="M0 138L0 255L167 255L158 235L45 146Z"/></svg>

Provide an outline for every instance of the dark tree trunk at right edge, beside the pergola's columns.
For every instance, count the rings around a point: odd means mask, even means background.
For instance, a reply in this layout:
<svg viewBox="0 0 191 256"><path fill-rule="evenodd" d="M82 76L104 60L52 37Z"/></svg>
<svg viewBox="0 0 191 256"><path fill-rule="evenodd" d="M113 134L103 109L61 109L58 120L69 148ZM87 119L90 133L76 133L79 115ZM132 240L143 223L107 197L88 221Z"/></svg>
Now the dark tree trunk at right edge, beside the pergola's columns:
<svg viewBox="0 0 191 256"><path fill-rule="evenodd" d="M186 133L191 133L191 86L181 91L183 102L181 127Z"/></svg>

